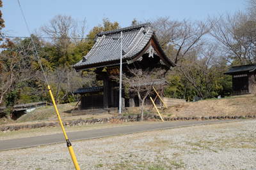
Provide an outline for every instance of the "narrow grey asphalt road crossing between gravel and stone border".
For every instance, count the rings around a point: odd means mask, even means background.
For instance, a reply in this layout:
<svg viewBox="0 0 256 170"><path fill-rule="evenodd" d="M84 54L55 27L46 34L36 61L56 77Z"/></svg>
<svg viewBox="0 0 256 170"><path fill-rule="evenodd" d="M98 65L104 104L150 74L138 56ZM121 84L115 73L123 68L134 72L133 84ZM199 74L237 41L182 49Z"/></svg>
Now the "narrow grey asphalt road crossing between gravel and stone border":
<svg viewBox="0 0 256 170"><path fill-rule="evenodd" d="M120 134L131 134L135 132L156 131L161 129L172 129L175 127L186 127L192 125L214 124L220 122L234 122L234 120L204 120L204 121L180 121L180 122L159 122L158 124L129 125L124 127L111 127L106 129L94 129L89 131L68 132L71 141L102 138ZM29 148L32 146L49 145L63 143L63 134L50 134L45 136L35 136L30 138L0 140L1 150L12 150L17 148Z"/></svg>

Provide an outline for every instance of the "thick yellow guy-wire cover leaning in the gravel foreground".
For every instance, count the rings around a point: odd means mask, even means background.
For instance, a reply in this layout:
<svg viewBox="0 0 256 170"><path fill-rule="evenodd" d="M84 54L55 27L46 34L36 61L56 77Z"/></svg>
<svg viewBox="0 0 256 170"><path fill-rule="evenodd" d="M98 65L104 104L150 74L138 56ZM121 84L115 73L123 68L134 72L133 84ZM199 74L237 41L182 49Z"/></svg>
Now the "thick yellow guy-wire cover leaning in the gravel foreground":
<svg viewBox="0 0 256 170"><path fill-rule="evenodd" d="M72 148L72 145L71 145L71 143L70 143L70 141L69 141L69 139L68 139L68 136L67 136L67 133L66 133L66 131L65 131L65 129L64 129L64 126L63 126L63 124L62 124L62 121L61 121L61 118L60 118L60 113L59 113L58 108L57 108L57 106L56 106L54 97L53 97L53 95L52 95L51 87L50 87L49 85L47 85L47 88L48 88L48 90L49 90L49 93L50 93L50 96L51 96L51 99L52 99L52 104L53 104L53 106L54 106L54 110L56 111L57 117L58 117L58 119L59 119L62 132L63 132L63 134L64 134L64 137L65 137L66 141L67 141L68 151L69 151L69 153L70 153L70 156L71 156L71 158L72 158L72 161L73 161L73 163L74 163L74 166L76 167L76 170L80 170L80 167L79 167L79 165L78 165L78 163L77 163L76 155L75 155L74 150L73 150L73 148Z"/></svg>

